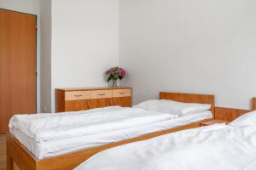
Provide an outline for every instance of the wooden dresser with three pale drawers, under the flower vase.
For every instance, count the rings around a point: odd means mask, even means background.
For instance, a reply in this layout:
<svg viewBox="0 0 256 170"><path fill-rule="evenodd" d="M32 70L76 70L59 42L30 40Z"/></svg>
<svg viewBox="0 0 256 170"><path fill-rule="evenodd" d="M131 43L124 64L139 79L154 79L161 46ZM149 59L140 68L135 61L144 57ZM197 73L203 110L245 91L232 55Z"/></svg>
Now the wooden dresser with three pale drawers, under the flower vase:
<svg viewBox="0 0 256 170"><path fill-rule="evenodd" d="M55 112L120 105L131 107L131 88L56 88Z"/></svg>

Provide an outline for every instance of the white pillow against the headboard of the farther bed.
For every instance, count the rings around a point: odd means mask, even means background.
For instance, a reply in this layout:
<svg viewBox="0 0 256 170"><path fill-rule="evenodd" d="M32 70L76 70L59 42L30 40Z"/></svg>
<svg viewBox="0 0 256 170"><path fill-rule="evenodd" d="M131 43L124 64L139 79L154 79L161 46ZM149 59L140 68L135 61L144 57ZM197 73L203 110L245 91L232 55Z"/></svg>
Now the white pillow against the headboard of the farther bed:
<svg viewBox="0 0 256 170"><path fill-rule="evenodd" d="M165 112L181 116L208 111L211 109L211 105L207 104L182 103L169 99L147 100L138 105L135 105L134 107L148 111Z"/></svg>

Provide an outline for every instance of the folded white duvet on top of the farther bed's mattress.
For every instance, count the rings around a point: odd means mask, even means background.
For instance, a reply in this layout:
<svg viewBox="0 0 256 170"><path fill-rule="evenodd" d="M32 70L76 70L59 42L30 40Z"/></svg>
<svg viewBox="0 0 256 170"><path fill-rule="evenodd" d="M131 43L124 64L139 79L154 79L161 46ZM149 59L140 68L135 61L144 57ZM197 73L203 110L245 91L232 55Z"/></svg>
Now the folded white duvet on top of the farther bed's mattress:
<svg viewBox="0 0 256 170"><path fill-rule="evenodd" d="M119 106L57 114L15 115L10 131L19 129L37 142L108 133L172 119L167 113Z"/></svg>

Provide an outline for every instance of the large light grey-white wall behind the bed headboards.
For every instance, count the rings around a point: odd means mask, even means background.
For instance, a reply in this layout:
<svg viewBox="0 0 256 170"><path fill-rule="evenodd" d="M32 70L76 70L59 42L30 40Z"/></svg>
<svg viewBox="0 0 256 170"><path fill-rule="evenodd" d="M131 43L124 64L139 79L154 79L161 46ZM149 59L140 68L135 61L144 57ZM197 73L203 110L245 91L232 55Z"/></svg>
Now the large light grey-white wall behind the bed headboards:
<svg viewBox="0 0 256 170"><path fill-rule="evenodd" d="M216 94L249 109L256 96L256 1L120 0L120 65L135 103L160 90Z"/></svg>

